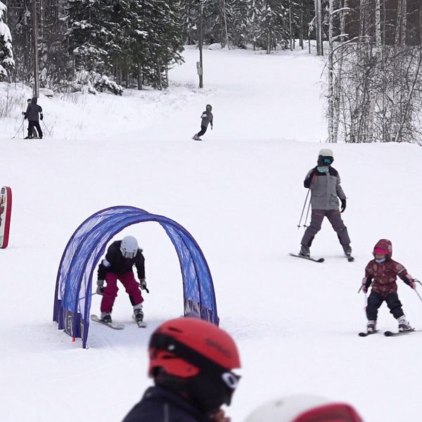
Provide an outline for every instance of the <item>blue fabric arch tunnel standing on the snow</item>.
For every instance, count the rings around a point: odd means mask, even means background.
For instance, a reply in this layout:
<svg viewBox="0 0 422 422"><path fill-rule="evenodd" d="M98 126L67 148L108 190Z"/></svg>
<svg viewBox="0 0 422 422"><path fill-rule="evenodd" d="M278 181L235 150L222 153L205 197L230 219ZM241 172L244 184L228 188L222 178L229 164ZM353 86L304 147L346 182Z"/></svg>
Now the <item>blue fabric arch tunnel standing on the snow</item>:
<svg viewBox="0 0 422 422"><path fill-rule="evenodd" d="M117 206L96 212L72 234L60 260L54 295L53 321L87 347L92 274L106 245L125 227L158 222L170 237L179 257L184 293L184 314L219 324L210 269L198 243L180 224L136 207Z"/></svg>

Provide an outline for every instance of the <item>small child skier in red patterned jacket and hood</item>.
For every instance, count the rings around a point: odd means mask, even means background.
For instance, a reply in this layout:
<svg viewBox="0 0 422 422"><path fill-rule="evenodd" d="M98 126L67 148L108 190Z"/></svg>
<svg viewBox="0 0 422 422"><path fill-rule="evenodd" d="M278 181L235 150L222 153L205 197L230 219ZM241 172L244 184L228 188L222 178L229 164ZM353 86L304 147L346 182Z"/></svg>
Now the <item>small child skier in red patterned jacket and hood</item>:
<svg viewBox="0 0 422 422"><path fill-rule="evenodd" d="M374 259L369 261L365 268L365 276L362 280L364 293L368 291L372 284L371 294L366 306L366 317L368 318L366 331L369 333L376 331L378 308L381 307L384 300L390 308L390 314L397 319L399 331L412 330L397 295L396 279L399 276L411 288L416 288L416 283L402 264L391 259L391 255L391 242L388 239L381 239L373 248Z"/></svg>

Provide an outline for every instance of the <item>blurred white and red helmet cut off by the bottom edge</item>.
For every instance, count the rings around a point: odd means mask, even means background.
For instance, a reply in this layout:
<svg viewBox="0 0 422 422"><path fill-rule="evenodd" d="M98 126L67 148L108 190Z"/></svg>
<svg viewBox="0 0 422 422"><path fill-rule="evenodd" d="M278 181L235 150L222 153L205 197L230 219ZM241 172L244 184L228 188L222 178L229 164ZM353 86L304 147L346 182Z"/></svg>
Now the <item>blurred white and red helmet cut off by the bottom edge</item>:
<svg viewBox="0 0 422 422"><path fill-rule="evenodd" d="M271 400L248 416L245 422L363 422L350 404L314 395L291 395Z"/></svg>

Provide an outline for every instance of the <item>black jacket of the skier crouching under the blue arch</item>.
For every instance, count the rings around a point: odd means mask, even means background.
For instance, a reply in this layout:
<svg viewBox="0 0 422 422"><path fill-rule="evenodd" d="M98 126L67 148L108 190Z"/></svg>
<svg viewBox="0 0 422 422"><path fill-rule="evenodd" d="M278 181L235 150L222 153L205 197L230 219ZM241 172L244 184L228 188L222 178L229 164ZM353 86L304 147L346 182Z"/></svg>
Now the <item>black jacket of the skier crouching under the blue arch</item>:
<svg viewBox="0 0 422 422"><path fill-rule="evenodd" d="M122 241L115 241L108 248L106 257L98 265L98 280L105 280L108 272L120 275L132 271L134 265L139 279L145 279L145 258L142 250L139 249L134 258L125 258L120 252L120 243Z"/></svg>

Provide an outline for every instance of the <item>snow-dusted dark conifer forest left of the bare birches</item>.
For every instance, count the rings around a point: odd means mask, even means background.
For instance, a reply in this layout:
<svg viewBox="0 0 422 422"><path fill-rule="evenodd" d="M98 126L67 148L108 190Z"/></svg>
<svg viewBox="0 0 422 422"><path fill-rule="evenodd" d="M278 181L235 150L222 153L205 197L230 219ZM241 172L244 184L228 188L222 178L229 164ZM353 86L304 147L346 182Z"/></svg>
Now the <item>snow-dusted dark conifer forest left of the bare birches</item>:
<svg viewBox="0 0 422 422"><path fill-rule="evenodd" d="M32 0L4 0L14 81L31 84ZM204 44L293 48L308 37L314 0L205 0ZM198 0L37 0L41 87L71 91L167 87L169 66L199 38ZM114 82L112 82L114 81Z"/></svg>

